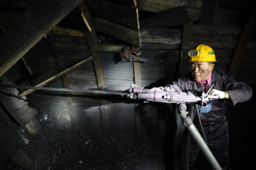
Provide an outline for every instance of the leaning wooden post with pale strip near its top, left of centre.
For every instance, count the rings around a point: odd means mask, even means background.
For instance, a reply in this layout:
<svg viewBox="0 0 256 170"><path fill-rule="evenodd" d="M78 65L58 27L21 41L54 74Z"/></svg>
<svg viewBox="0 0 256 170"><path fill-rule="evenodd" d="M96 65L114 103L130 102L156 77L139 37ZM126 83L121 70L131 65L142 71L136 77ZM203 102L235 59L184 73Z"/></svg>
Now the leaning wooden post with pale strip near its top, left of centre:
<svg viewBox="0 0 256 170"><path fill-rule="evenodd" d="M88 45L90 47L90 50L98 50L98 41L96 36L96 31L94 28L94 23L91 19L91 14L89 12L89 9L87 7L87 4L85 1L83 1L79 6L81 15L83 15L83 18L85 20L85 23L87 22L86 26L88 28L88 31L90 32L88 36L86 36L86 39L88 41ZM88 32L86 31L86 32ZM98 53L91 53L93 61L94 61L94 69L97 76L97 84L98 89L103 90L104 89L104 80L102 75L102 66L99 61L99 54Z"/></svg>

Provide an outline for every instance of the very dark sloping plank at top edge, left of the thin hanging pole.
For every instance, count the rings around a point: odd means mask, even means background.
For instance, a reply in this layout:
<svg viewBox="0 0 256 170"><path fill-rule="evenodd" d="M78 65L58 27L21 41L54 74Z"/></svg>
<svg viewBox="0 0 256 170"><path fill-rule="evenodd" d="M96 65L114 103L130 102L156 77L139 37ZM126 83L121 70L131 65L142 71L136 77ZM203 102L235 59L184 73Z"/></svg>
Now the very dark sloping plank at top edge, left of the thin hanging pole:
<svg viewBox="0 0 256 170"><path fill-rule="evenodd" d="M124 26L137 28L136 8L111 1L87 0L92 14Z"/></svg>

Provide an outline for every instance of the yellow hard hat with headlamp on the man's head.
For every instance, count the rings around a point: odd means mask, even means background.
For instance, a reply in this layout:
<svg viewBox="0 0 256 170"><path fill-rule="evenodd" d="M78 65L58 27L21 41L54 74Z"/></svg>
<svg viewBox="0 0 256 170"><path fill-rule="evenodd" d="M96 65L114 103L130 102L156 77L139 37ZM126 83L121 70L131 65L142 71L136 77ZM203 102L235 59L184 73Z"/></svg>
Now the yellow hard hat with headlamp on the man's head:
<svg viewBox="0 0 256 170"><path fill-rule="evenodd" d="M198 45L189 51L189 62L216 62L214 50L208 45Z"/></svg>

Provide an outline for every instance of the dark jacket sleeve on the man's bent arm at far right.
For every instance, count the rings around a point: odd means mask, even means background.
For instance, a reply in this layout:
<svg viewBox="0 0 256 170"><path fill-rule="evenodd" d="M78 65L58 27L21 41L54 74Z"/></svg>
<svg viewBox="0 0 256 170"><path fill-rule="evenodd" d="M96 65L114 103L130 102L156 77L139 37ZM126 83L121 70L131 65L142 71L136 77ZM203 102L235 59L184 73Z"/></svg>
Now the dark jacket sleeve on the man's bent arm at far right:
<svg viewBox="0 0 256 170"><path fill-rule="evenodd" d="M229 94L235 106L237 103L248 101L252 97L252 88L244 82L238 82L233 77L225 75L224 90Z"/></svg>

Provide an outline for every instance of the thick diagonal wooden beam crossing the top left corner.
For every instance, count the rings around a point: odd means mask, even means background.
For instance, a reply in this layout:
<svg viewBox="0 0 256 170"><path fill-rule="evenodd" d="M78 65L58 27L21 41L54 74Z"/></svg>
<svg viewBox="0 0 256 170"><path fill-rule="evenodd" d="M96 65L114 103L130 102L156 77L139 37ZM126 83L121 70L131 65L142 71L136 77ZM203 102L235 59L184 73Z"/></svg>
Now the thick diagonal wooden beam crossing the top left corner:
<svg viewBox="0 0 256 170"><path fill-rule="evenodd" d="M36 1L0 36L0 77L81 1Z"/></svg>

